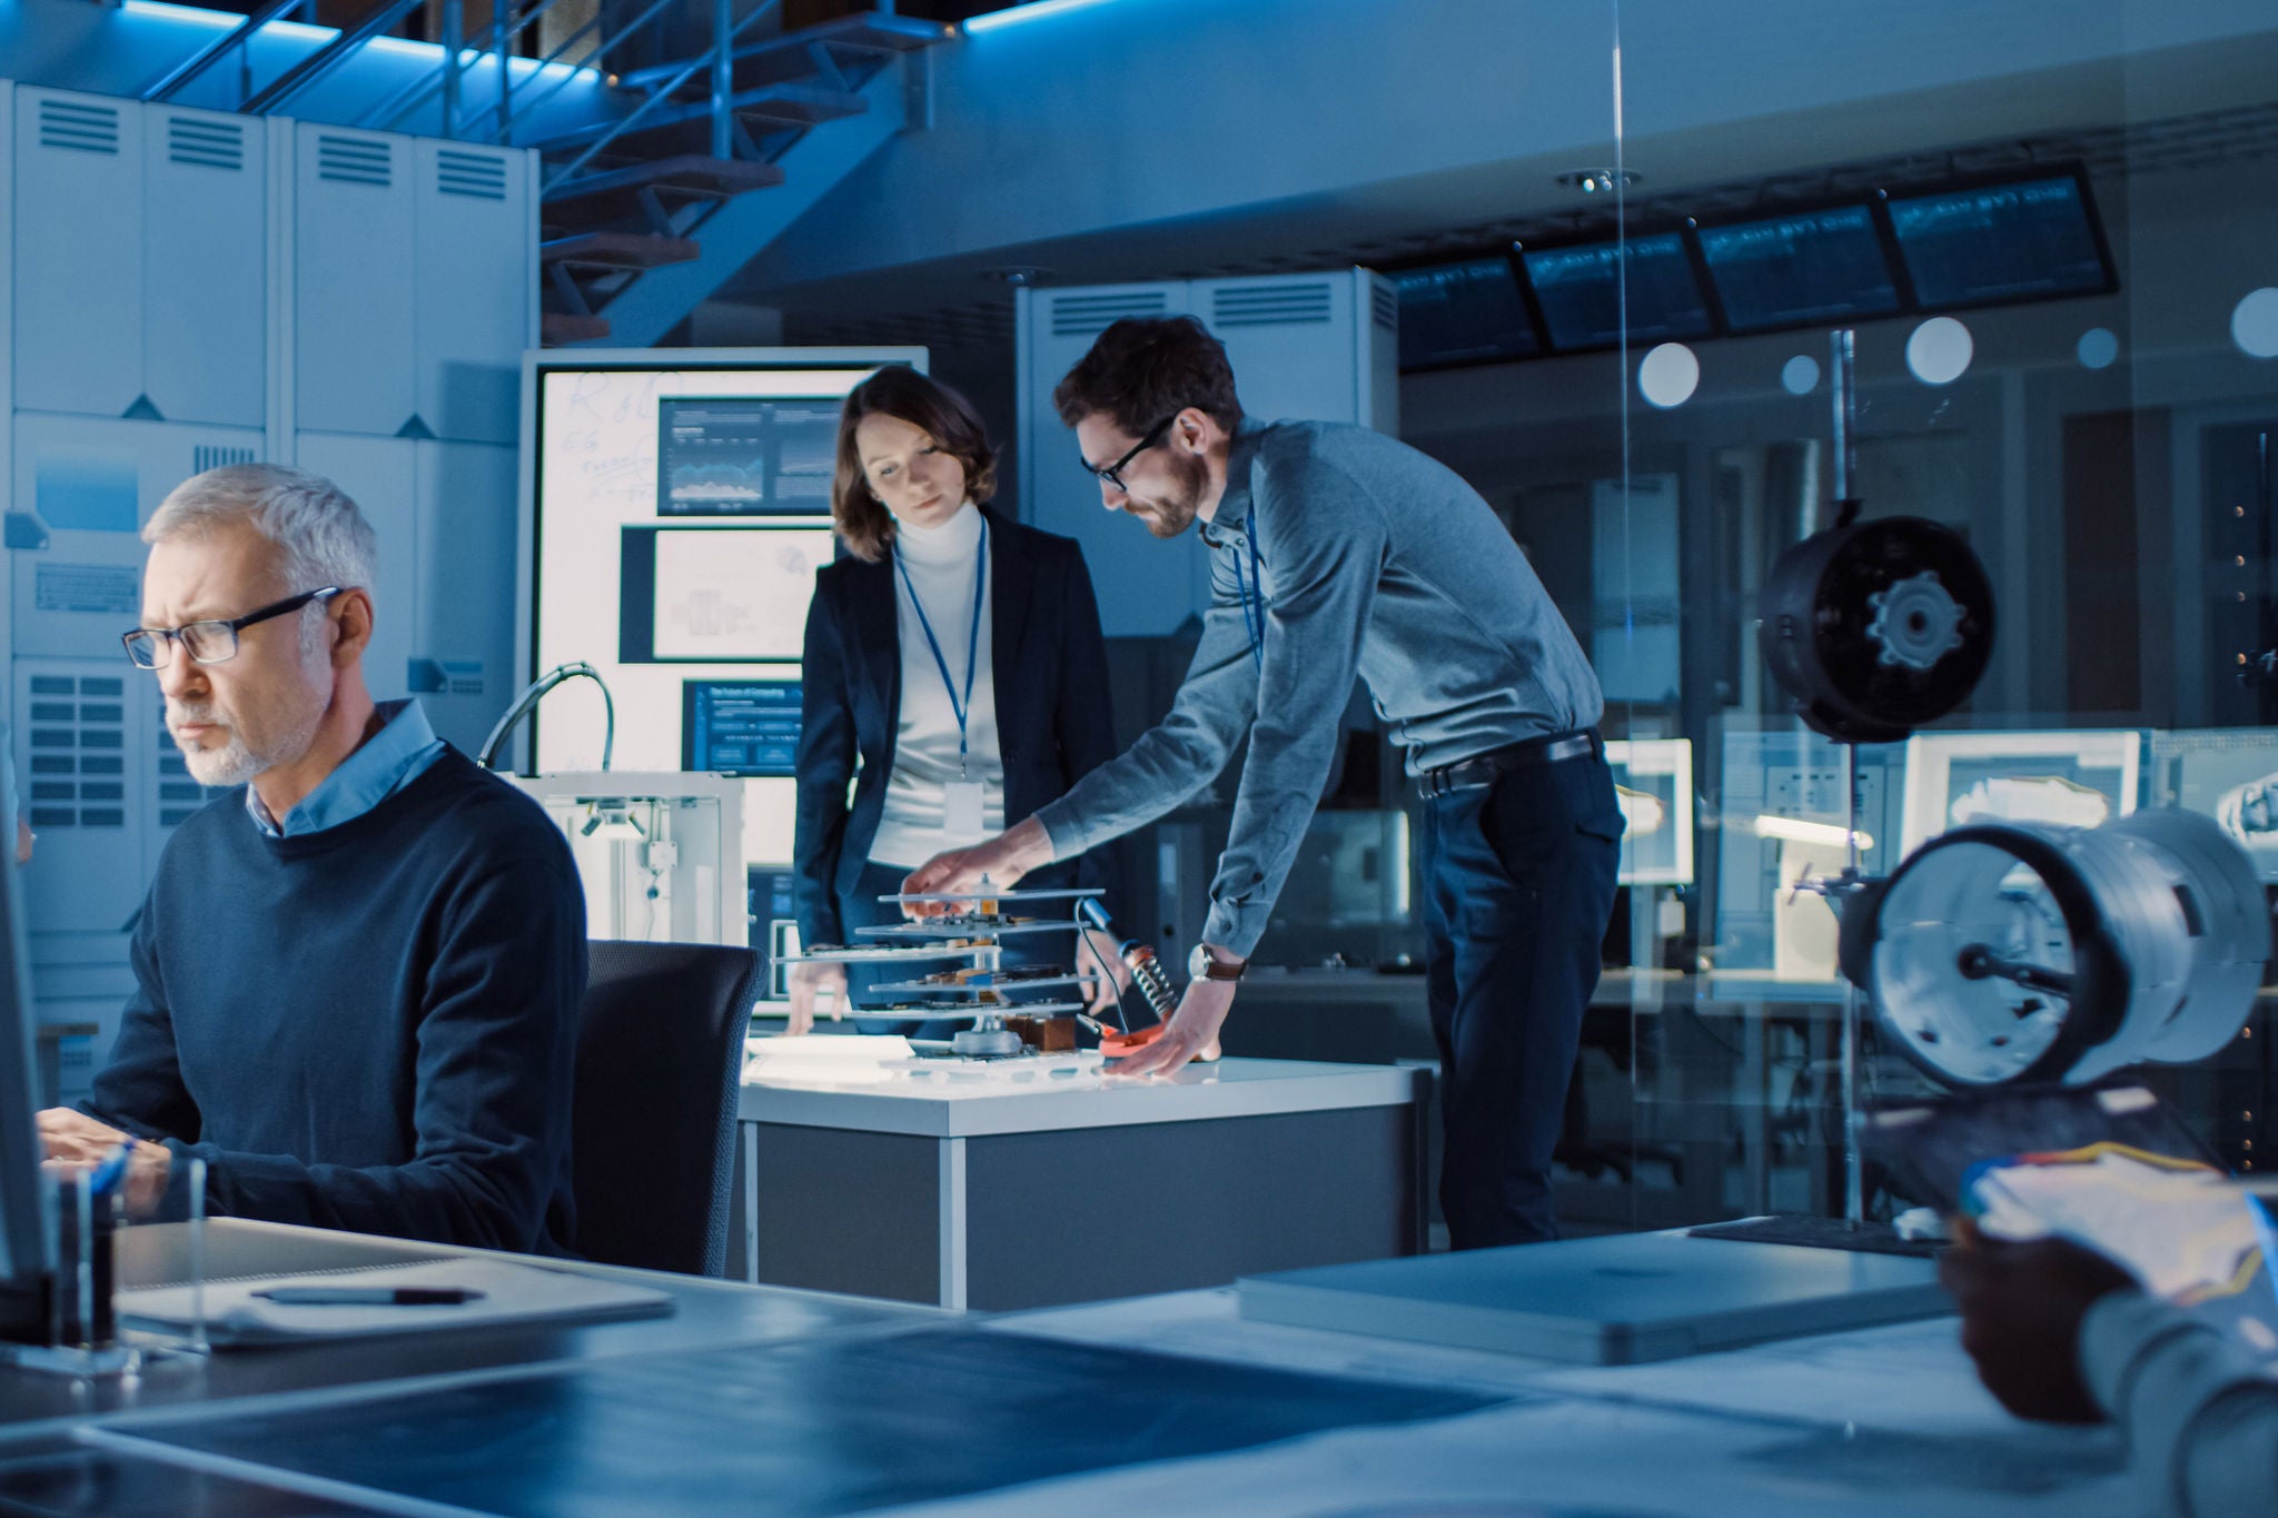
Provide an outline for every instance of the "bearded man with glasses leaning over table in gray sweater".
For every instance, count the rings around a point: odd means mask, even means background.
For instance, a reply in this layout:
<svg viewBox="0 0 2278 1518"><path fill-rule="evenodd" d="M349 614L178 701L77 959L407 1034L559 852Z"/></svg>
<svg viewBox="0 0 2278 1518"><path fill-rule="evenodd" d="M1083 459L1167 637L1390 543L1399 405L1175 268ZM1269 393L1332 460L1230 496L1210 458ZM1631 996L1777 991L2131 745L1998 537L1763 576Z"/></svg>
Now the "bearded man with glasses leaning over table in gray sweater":
<svg viewBox="0 0 2278 1518"><path fill-rule="evenodd" d="M1242 414L1191 316L1118 321L1055 391L1107 510L1201 523L1212 603L1169 717L1027 822L907 890L1073 858L1203 790L1251 740L1191 985L1123 1061L1173 1072L1235 999L1312 822L1353 678L1426 797L1419 863L1458 1247L1556 1238L1549 1163L1613 910L1622 815L1597 676L1510 533L1380 432Z"/></svg>

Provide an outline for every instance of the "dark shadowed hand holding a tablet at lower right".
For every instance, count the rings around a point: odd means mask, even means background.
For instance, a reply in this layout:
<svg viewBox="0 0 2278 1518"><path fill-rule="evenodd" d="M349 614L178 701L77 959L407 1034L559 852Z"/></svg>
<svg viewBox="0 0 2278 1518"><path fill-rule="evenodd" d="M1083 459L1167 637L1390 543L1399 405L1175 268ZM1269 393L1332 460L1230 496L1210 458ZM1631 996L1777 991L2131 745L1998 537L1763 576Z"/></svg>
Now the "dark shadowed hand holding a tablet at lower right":
<svg viewBox="0 0 2278 1518"><path fill-rule="evenodd" d="M2018 1418L2103 1422L2080 1379L2080 1320L2134 1277L2059 1238L2007 1243L1961 1220L1939 1256L1939 1281L1961 1309L1961 1347L1977 1379Z"/></svg>

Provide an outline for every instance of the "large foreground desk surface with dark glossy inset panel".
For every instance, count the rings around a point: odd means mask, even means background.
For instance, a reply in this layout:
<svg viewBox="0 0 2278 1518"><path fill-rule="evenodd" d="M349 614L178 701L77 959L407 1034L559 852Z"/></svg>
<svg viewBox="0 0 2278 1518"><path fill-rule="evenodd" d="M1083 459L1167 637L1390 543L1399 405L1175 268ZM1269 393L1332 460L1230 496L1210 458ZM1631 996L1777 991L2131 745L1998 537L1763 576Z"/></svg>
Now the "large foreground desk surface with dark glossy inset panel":
<svg viewBox="0 0 2278 1518"><path fill-rule="evenodd" d="M759 1313L790 1297L681 1288ZM1952 1320L1576 1368L1253 1325L1235 1315L1230 1290L991 1320L877 1311L795 1338L706 1350L620 1338L606 1354L554 1363L146 1404L68 1432L0 1427L0 1507L517 1518L2153 1511L2112 1429L2000 1413ZM262 1359L216 1356L216 1370ZM0 1393L14 1384L0 1372Z"/></svg>

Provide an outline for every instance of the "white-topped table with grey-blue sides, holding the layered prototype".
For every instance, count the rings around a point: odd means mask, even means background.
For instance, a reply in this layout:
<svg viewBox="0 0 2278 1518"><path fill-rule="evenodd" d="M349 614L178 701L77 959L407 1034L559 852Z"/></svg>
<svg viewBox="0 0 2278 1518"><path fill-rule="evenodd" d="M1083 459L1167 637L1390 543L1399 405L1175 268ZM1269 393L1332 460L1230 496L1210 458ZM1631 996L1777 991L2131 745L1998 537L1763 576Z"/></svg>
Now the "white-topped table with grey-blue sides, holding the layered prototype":
<svg viewBox="0 0 2278 1518"><path fill-rule="evenodd" d="M1014 1309L1415 1254L1426 1081L1253 1058L1039 1088L752 1079L747 1279Z"/></svg>

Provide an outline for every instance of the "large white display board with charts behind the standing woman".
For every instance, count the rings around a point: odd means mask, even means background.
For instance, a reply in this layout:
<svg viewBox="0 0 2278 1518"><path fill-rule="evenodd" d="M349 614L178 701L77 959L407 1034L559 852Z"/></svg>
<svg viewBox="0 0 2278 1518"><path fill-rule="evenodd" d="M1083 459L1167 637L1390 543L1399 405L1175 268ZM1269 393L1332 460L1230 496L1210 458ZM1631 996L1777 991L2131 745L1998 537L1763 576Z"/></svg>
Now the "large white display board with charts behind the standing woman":
<svg viewBox="0 0 2278 1518"><path fill-rule="evenodd" d="M590 662L617 710L615 769L745 774L752 867L790 863L784 744L797 742L806 603L834 553L838 405L882 364L923 369L925 350L565 348L524 360L531 560L519 674ZM713 690L704 733L686 731L690 685ZM761 710L781 703L779 692L788 731ZM736 724L749 765L722 762ZM531 731L542 774L601 762L601 701L583 683L551 694Z"/></svg>

